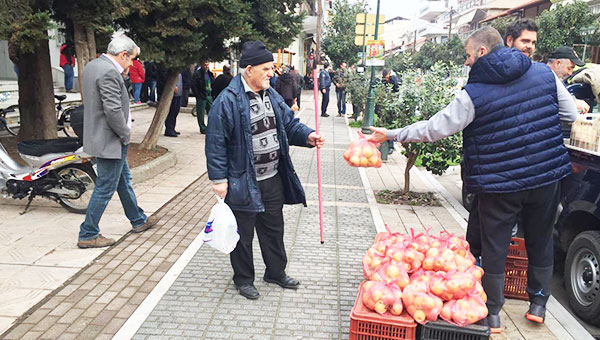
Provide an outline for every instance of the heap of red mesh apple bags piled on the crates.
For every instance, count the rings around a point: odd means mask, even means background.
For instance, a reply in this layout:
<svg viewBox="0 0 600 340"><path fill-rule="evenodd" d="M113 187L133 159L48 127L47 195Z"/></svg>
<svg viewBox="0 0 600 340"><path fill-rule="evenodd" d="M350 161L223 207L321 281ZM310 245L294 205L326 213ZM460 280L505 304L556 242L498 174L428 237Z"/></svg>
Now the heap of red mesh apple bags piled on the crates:
<svg viewBox="0 0 600 340"><path fill-rule="evenodd" d="M362 302L379 314L406 310L420 324L441 317L457 326L488 314L483 269L475 265L469 243L448 232L415 235L388 228L364 255L363 272Z"/></svg>

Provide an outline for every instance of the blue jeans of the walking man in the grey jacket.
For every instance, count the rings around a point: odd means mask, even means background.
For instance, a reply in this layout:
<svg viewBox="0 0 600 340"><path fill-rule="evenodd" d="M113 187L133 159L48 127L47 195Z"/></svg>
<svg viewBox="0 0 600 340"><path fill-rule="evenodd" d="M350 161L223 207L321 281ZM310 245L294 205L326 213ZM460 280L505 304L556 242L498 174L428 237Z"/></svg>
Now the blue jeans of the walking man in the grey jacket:
<svg viewBox="0 0 600 340"><path fill-rule="evenodd" d="M129 145L122 146L120 159L96 158L98 161L96 186L85 213L85 221L79 226L79 240L86 241L98 237L100 234L98 223L115 191L119 194L125 216L131 225L139 227L146 223L148 216L137 205L131 185L131 172L127 163L128 149Z"/></svg>

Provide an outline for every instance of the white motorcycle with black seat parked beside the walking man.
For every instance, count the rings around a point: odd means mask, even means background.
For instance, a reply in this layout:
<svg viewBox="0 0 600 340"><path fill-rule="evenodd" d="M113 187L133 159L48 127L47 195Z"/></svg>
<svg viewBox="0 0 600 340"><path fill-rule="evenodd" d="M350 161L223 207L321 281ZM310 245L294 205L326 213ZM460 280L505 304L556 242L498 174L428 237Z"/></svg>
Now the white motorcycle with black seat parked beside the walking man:
<svg viewBox="0 0 600 340"><path fill-rule="evenodd" d="M0 109L0 113L4 110ZM3 115L0 115L0 125ZM83 152L80 138L20 142L26 165L13 160L0 143L0 193L28 197L27 212L36 196L54 200L71 212L85 214L95 183L95 159Z"/></svg>

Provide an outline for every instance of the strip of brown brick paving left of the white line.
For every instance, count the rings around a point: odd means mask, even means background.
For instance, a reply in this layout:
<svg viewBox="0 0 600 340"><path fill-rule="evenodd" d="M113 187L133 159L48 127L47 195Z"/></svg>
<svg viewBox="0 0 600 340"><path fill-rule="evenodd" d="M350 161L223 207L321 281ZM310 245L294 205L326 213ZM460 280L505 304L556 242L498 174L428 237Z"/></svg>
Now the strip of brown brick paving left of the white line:
<svg viewBox="0 0 600 340"><path fill-rule="evenodd" d="M205 196L210 194L210 187L206 185L206 176L188 187L187 192L182 192L180 197ZM195 218L205 220L212 202L204 199L185 199L191 203L184 205L188 211L194 212ZM169 204L176 206L180 202L173 200ZM167 205L160 216L169 210ZM181 209L181 208L180 208ZM181 211L184 215L184 211ZM83 269L70 283L59 289L38 311L46 311L45 315L37 311L30 317L22 320L22 325L33 325L31 330L23 331L22 336L28 332L48 332L54 324L68 325L65 334L77 334L79 338L97 338L108 336L116 332L118 327L112 320L119 319L124 323L127 317L146 298L158 281L164 276L166 270L183 253L192 239L201 231L195 224L179 224L178 220L171 222L161 219L161 225L148 230L140 235L129 235L122 242L104 251L97 261ZM153 236L154 232L160 232ZM170 232L165 232L169 229ZM170 235L170 238L166 238ZM167 247L168 244L173 244ZM163 249L168 251L162 252ZM142 250L142 251L140 251ZM129 252L129 253L127 253ZM157 257L161 253L160 257ZM158 268L163 270L158 271ZM72 284L74 288L70 288ZM48 315L52 313L52 315ZM38 320L32 322L36 317ZM30 320L28 320L30 319ZM60 320L57 323L57 320ZM111 323L112 322L112 323ZM106 327L112 327L107 330ZM51 332L57 332L55 326ZM62 326L61 326L62 327ZM23 327L14 327L6 335L11 336L13 331L23 330ZM54 334L54 333L48 333Z"/></svg>

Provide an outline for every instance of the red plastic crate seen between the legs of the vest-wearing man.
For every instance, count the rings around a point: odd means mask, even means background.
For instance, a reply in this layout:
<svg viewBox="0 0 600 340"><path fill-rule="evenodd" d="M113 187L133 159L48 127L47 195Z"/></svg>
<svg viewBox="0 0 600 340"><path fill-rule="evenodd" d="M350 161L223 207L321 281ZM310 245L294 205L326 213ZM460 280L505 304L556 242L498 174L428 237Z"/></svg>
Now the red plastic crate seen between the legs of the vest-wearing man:
<svg viewBox="0 0 600 340"><path fill-rule="evenodd" d="M519 300L529 300L527 294L527 250L525 240L513 237L504 266L504 296Z"/></svg>

